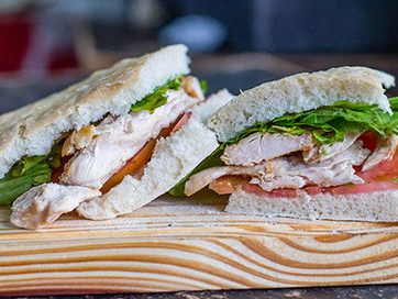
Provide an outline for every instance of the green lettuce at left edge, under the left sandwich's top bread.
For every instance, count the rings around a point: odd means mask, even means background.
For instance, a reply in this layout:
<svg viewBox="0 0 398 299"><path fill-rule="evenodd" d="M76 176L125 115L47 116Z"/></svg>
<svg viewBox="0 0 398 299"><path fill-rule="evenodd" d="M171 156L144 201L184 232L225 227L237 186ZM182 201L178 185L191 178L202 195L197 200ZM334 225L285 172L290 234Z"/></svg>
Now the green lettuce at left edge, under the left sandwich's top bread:
<svg viewBox="0 0 398 299"><path fill-rule="evenodd" d="M0 206L12 203L34 186L51 181L52 169L60 166L60 145L48 155L23 157L0 179Z"/></svg>

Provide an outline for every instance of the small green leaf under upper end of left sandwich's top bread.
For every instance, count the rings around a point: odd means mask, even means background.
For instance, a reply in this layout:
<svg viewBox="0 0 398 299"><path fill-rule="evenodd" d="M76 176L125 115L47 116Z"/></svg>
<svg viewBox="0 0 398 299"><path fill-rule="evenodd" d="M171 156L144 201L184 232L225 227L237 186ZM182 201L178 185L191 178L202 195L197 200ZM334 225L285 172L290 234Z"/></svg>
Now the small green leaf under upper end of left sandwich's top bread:
<svg viewBox="0 0 398 299"><path fill-rule="evenodd" d="M147 95L141 101L134 103L130 111L139 112L146 110L151 114L156 108L164 106L167 102L166 92L167 90L177 90L183 84L183 76L178 76L175 79L168 80L165 85L156 88L152 93Z"/></svg>

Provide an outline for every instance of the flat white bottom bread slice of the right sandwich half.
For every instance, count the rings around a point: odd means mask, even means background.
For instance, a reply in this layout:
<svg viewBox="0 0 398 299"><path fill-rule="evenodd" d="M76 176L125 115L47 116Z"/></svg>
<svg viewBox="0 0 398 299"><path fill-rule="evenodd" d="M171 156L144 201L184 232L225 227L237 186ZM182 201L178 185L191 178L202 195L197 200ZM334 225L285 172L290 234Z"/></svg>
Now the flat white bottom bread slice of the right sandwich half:
<svg viewBox="0 0 398 299"><path fill-rule="evenodd" d="M398 190L355 195L325 192L313 196L299 191L296 198L258 196L239 190L230 196L225 211L309 220L396 222Z"/></svg>

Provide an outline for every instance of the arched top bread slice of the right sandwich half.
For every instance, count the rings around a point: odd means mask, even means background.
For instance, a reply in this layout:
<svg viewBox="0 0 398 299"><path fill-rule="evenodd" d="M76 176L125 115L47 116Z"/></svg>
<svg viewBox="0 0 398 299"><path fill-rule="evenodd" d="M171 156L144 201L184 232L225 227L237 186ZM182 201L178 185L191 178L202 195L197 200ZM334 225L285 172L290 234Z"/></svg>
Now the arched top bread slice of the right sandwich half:
<svg viewBox="0 0 398 299"><path fill-rule="evenodd" d="M225 142L257 122L268 122L286 113L303 112L338 101L378 104L391 113L385 88L395 77L367 67L339 67L302 73L243 91L208 121L219 141Z"/></svg>

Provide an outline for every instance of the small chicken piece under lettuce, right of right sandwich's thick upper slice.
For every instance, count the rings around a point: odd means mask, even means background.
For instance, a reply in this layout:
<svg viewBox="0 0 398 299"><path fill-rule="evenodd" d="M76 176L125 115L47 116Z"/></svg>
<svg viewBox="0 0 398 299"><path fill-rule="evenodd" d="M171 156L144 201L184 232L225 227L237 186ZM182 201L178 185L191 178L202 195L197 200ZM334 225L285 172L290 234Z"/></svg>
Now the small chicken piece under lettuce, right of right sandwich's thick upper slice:
<svg viewBox="0 0 398 299"><path fill-rule="evenodd" d="M309 151L302 152L302 158L306 163L316 163L319 160L327 160L341 152L347 150L354 142L362 135L363 132L347 133L344 140L335 142L333 144L322 144L321 146L314 146Z"/></svg>

